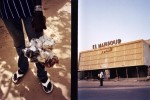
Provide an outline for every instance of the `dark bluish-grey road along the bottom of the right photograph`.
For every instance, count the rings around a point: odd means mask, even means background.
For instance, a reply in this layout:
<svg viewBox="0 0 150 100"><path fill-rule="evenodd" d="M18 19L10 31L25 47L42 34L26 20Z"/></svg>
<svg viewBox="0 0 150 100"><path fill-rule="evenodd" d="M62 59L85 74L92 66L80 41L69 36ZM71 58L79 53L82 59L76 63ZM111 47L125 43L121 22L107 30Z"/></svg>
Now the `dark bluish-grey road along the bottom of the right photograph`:
<svg viewBox="0 0 150 100"><path fill-rule="evenodd" d="M150 87L79 88L78 100L150 100Z"/></svg>

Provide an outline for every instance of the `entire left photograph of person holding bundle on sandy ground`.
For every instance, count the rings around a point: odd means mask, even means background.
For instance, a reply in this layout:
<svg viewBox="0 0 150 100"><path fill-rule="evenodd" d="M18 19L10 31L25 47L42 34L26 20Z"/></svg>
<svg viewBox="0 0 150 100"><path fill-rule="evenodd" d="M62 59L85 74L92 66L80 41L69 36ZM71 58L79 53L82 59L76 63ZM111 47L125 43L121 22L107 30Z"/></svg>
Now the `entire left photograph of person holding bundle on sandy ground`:
<svg viewBox="0 0 150 100"><path fill-rule="evenodd" d="M71 99L71 1L0 0L0 100Z"/></svg>

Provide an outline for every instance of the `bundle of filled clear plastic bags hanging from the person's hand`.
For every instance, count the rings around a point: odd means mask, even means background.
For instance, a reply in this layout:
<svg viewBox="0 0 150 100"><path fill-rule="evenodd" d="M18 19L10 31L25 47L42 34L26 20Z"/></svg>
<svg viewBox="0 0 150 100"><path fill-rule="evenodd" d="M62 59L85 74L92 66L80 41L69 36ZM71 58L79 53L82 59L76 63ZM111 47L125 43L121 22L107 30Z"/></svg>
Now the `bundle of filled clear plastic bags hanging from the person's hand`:
<svg viewBox="0 0 150 100"><path fill-rule="evenodd" d="M59 62L58 57L52 51L54 45L54 39L43 35L39 39L32 39L29 46L23 49L23 53L31 62L40 62L46 67L52 67Z"/></svg>

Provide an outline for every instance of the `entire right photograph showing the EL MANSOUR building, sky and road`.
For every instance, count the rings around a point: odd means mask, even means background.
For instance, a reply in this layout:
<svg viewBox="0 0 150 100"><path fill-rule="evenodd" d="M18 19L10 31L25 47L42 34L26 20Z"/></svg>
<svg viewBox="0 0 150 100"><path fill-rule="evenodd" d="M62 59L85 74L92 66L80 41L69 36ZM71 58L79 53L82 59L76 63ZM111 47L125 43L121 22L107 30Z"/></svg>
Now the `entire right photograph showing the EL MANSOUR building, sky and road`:
<svg viewBox="0 0 150 100"><path fill-rule="evenodd" d="M149 11L149 0L78 0L78 100L150 99Z"/></svg>

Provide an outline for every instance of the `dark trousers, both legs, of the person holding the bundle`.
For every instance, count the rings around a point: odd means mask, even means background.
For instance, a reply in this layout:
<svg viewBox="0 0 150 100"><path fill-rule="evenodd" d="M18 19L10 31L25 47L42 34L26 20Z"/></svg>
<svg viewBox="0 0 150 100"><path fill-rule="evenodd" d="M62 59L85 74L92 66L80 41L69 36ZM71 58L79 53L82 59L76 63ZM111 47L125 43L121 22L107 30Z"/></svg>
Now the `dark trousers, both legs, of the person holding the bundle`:
<svg viewBox="0 0 150 100"><path fill-rule="evenodd" d="M14 46L19 56L18 67L22 72L26 73L29 68L29 62L22 52L22 49L26 47L24 32L23 32L23 24L29 41L32 38L39 38L40 36L43 35L43 33L35 33L31 24L32 17L23 18L23 19L3 19L3 21L13 39ZM38 78L40 80L47 78L47 72L45 71L45 66L43 66L41 63L38 62L36 63L36 67L37 67Z"/></svg>

